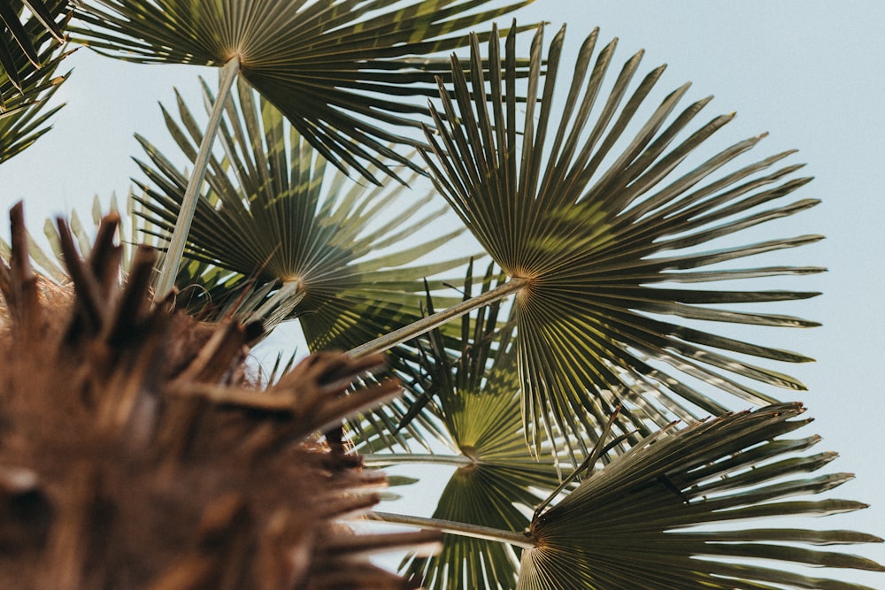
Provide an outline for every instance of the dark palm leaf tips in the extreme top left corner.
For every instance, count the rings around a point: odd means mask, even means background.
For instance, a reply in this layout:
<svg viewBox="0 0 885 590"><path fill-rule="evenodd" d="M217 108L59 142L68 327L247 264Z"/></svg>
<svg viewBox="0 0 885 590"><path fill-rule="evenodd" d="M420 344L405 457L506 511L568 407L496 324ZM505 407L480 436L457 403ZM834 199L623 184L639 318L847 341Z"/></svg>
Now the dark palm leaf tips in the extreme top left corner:
<svg viewBox="0 0 885 590"><path fill-rule="evenodd" d="M23 19L26 7L29 16ZM0 76L6 76L23 94L22 57L34 68L46 63L47 56L42 54L46 33L55 38L55 47L65 42L58 19L68 10L67 0L0 0ZM0 96L0 104L3 96L9 96L8 90Z"/></svg>

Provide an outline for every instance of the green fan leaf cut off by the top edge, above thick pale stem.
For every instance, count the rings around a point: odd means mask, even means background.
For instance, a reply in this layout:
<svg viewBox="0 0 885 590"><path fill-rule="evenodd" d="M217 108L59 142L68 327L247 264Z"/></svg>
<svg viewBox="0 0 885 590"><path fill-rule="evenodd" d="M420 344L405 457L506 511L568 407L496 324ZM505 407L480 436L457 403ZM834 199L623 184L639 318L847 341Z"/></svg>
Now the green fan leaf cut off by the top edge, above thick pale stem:
<svg viewBox="0 0 885 590"><path fill-rule="evenodd" d="M412 165L389 142L415 144L390 126L415 126L448 61L428 55L466 46L466 31L530 4L491 0L88 0L81 42L142 63L239 60L242 77L274 103L332 164L374 179ZM487 37L488 34L483 35ZM381 156L381 157L379 157Z"/></svg>

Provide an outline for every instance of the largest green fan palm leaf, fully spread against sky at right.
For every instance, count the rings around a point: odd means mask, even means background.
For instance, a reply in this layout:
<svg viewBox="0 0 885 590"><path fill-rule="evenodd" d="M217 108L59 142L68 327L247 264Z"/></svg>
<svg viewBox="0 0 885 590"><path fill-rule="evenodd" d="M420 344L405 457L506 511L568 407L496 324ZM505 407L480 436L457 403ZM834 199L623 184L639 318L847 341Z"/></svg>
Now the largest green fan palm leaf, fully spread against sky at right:
<svg viewBox="0 0 885 590"><path fill-rule="evenodd" d="M553 97L564 31L550 45L543 83L539 31L532 46L527 103L519 106L525 111L521 117L514 98L518 88L513 35L507 40L504 70L498 68L502 58L495 35L489 42L488 80L479 67L480 41L474 39L468 68L472 77L466 78L453 58L455 98L441 90L443 112L434 113L438 131L427 131L433 155L426 159L436 187L504 272L527 283L516 296L513 313L524 418L527 427L534 428L535 444L544 431L548 437L557 430L576 433L577 439L582 432L595 432L618 404L623 405L626 422L622 432L636 428L648 433L650 424L692 419L697 409L712 414L726 410L712 396L690 387L687 378L759 405L774 399L744 381L804 388L797 379L727 353L785 362L811 360L806 356L735 341L668 317L817 325L720 307L802 299L814 293L667 286L820 272L817 267L788 266L697 270L819 240L820 236L802 236L698 249L716 238L803 211L816 201L772 204L808 181L790 178L797 165L774 167L788 154L734 166L735 158L758 137L677 176L680 163L731 117L718 117L689 131L708 100L671 117L688 88L683 86L666 96L628 139L628 124L663 68L648 74L629 94L639 53L627 61L604 96L601 87L614 42L592 63L596 37L595 31L581 47L566 105L557 113ZM596 104L597 97L602 105ZM594 109L600 111L596 120L590 116ZM613 164L604 169L604 161L612 158ZM668 365L675 373L664 368Z"/></svg>

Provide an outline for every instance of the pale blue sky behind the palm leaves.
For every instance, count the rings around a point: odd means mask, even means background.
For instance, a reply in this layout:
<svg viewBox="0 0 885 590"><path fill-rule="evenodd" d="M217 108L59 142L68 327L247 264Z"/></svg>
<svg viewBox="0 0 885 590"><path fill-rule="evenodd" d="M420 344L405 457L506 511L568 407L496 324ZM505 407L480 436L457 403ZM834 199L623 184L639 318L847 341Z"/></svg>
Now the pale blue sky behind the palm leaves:
<svg viewBox="0 0 885 590"><path fill-rule="evenodd" d="M840 453L829 471L858 475L835 495L873 504L816 525L885 535L885 402L879 375L885 350L885 3L537 0L519 12L520 22L538 19L550 21L548 39L568 23L567 55L595 26L602 29L601 42L620 37L619 67L644 48L641 73L669 64L662 88L694 83L683 104L714 94L705 109L709 118L737 111L735 121L720 132L729 143L769 132L752 152L757 159L782 149L800 150L791 161L807 163L804 173L816 180L800 189L797 198L820 199L822 204L766 231L772 237L827 235L826 241L779 255L784 264L829 268L826 274L790 283L789 288L824 295L785 311L823 326L777 330L763 340L818 360L775 367L809 388L781 398L805 402L815 423L802 432L823 436L818 450ZM570 64L570 57L563 63ZM217 80L217 73L207 68L129 65L84 49L65 67L74 71L58 93L67 105L54 118L54 129L0 165L0 210L25 199L35 233L48 216L72 208L88 214L93 195L107 203L112 193L120 198L127 194L130 177L140 176L130 159L140 152L133 133L177 156L158 101L172 105L177 87L192 110L199 111L197 76L212 84ZM178 161L185 164L181 157ZM8 236L5 216L0 231ZM425 508L429 514L433 506ZM857 552L885 562L881 546ZM852 572L845 579L885 587L882 575Z"/></svg>

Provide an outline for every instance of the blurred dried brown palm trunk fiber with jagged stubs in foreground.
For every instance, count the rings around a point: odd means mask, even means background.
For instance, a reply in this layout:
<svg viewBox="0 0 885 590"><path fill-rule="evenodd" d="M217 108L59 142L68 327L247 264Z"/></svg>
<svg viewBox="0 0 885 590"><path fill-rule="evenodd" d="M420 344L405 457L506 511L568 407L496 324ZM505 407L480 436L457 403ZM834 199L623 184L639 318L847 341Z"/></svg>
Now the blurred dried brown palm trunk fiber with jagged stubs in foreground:
<svg viewBox="0 0 885 590"><path fill-rule="evenodd" d="M0 260L0 587L411 588L366 559L435 533L357 535L377 473L312 433L396 384L342 391L379 357L312 356L265 391L243 380L250 326L152 305L156 254L119 286L117 220L89 259L59 222L73 282L47 294L20 204Z"/></svg>

